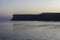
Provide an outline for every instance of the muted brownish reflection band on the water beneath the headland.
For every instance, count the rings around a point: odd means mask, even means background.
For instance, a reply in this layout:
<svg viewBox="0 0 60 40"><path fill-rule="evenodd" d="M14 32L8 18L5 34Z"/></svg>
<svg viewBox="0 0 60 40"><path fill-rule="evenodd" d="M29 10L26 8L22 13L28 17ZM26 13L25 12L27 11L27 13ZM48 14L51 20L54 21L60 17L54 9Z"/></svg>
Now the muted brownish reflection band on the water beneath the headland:
<svg viewBox="0 0 60 40"><path fill-rule="evenodd" d="M58 29L60 28L60 25L56 24L39 24L39 25L31 25L31 24L16 24L13 23L13 30L28 30L28 29L34 29L34 28L41 28L41 27L47 27L51 29Z"/></svg>

